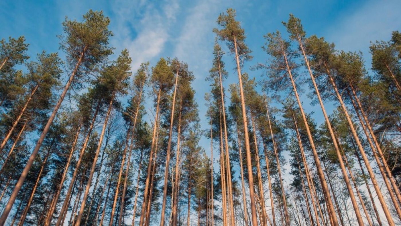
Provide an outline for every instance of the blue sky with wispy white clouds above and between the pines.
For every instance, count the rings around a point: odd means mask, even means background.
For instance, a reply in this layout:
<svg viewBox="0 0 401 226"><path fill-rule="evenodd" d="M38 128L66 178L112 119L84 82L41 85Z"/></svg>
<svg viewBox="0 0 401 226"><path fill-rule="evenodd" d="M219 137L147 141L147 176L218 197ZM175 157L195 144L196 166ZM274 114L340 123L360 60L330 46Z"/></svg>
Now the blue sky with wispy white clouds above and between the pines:
<svg viewBox="0 0 401 226"><path fill-rule="evenodd" d="M252 71L249 67L263 63L267 55L261 49L263 35L277 30L287 36L282 21L292 13L300 18L307 36L316 34L336 44L336 49L362 51L366 66L370 68L369 44L371 41L391 38L391 32L401 30L399 10L401 1L325 1L325 0L2 0L0 1L0 39L24 35L30 44L28 55L35 59L37 53L45 50L60 52L57 35L63 34L61 23L69 19L81 21L89 9L103 10L109 16L109 29L114 36L110 44L115 47L115 59L120 51L127 48L132 57L132 71L140 63L150 61L155 65L160 57L178 57L188 63L195 75L193 88L199 104L199 115L203 129L208 128L205 118L204 94L209 92L205 81L212 65L213 43L217 17L227 8L237 10L236 19L241 22L247 35L246 43L253 51L252 61L245 64L243 72L250 77L263 79L263 71ZM227 49L227 48L226 48ZM237 83L233 57L223 59L229 78L225 87ZM309 102L303 95L304 102ZM148 103L151 106L152 103ZM326 103L332 105L332 103ZM332 107L332 106L331 106ZM305 111L316 112L318 122L320 106L304 106ZM330 106L328 106L330 108ZM201 145L207 149L206 139Z"/></svg>

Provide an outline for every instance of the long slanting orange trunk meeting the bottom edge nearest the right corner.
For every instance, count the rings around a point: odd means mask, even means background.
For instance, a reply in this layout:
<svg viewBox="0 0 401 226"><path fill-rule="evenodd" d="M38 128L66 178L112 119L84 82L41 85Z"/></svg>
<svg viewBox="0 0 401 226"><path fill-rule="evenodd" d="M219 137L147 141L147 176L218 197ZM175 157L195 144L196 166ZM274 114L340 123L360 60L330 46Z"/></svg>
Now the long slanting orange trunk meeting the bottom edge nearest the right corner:
<svg viewBox="0 0 401 226"><path fill-rule="evenodd" d="M368 158L367 158L367 156L365 154L365 150L363 149L362 144L360 143L360 140L358 138L358 134L356 134L356 130L355 130L354 124L352 123L352 120L351 120L351 118L350 118L350 116L348 114L348 110L346 109L345 104L342 101L342 97L341 97L340 93L338 92L337 85L334 82L334 78L332 77L330 71L328 70L328 67L327 67L326 63L324 63L324 65L326 67L327 74L328 74L328 77L330 79L330 82L331 82L331 84L332 84L332 86L334 88L334 91L336 92L336 96L338 98L338 101L340 102L341 108L344 111L345 117L346 117L346 119L348 121L350 130L352 132L352 136L354 137L356 145L358 146L359 152L362 155L362 159L365 162L365 165L366 165L366 168L368 170L369 176L371 177L371 180L372 180L372 183L373 183L373 187L375 188L375 191L377 193L377 197L379 198L380 204L381 204L381 206L383 208L383 212L384 212L384 214L385 214L385 216L387 218L387 221L388 221L389 225L390 226L394 226L395 224L394 224L394 221L393 221L393 217L390 214L389 208L387 207L387 204L386 204L386 202L384 200L383 194L381 193L380 187L377 184L377 180L376 180L375 174L373 173L373 169L372 169L372 167L371 167L371 165L369 163L369 160L368 160ZM352 197L352 195L351 195L351 197ZM398 216L401 218L401 209L398 208L396 210L397 210Z"/></svg>

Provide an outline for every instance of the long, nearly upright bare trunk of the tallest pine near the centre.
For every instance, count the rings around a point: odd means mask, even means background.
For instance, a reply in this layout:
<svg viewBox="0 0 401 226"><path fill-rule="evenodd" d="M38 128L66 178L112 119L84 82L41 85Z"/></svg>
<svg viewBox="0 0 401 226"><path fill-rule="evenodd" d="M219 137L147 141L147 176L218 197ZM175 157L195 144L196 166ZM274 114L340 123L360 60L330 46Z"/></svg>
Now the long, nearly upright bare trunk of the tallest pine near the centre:
<svg viewBox="0 0 401 226"><path fill-rule="evenodd" d="M252 175L252 161L251 161L251 147L249 146L249 135L248 135L248 121L247 121L247 113L245 109L245 97L242 87L242 75L241 75L241 67L239 65L239 56L237 50L237 39L234 37L234 50L235 50L235 59L237 61L237 71L238 71L238 79L239 79L239 90L241 94L241 108L242 108L242 120L244 124L244 136L245 136L245 150L247 154L247 167L248 172ZM255 208L255 194L253 189L253 177L249 177L249 197L251 199L251 213L252 213L252 226L257 226L257 218L256 218L256 208Z"/></svg>

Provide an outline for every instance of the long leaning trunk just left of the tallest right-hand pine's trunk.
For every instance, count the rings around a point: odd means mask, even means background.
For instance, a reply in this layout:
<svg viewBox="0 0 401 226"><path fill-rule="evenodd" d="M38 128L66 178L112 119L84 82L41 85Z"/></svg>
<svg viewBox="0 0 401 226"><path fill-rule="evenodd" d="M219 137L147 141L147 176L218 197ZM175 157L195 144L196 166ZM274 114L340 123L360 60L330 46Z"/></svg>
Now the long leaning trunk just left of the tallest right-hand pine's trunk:
<svg viewBox="0 0 401 226"><path fill-rule="evenodd" d="M301 114L302 114L302 119L303 119L304 124L305 124L306 132L308 134L308 138L309 138L309 141L310 141L310 146L312 148L313 157L314 157L314 160L315 160L315 163L316 163L316 169L318 171L318 176L319 176L319 179L320 179L320 183L322 185L324 199L326 201L328 215L330 216L330 222L331 222L332 226L338 226L338 220L337 220L336 212L334 210L333 202L331 200L331 195L330 195L330 191L328 189L327 181L326 181L326 178L324 177L323 169L322 169L322 166L320 164L320 159L319 159L318 153L316 151L316 146L315 146L314 140L312 138L312 133L310 132L309 124L308 124L308 121L306 120L305 112L304 112L304 109L302 108L302 103L301 103L301 100L299 98L299 95L298 95L298 92L297 92L297 88L296 88L296 85L295 85L295 81L294 81L294 78L292 76L290 65L288 65L287 55L286 55L285 52L283 52L283 56L284 56L284 60L286 61L286 67L287 67L288 75L289 75L289 77L291 79L292 87L293 87L293 90L294 90L294 95L295 95L295 97L297 99L298 106L299 106ZM312 81L314 81L314 80L312 79ZM322 108L322 109L324 109L324 108Z"/></svg>

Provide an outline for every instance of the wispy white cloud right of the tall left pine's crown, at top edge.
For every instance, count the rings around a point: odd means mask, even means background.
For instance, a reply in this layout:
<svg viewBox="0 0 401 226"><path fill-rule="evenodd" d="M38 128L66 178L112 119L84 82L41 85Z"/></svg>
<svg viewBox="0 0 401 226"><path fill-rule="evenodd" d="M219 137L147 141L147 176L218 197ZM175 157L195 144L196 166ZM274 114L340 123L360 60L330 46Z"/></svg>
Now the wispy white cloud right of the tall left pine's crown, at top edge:
<svg viewBox="0 0 401 226"><path fill-rule="evenodd" d="M169 39L169 28L176 20L179 6L176 0L164 1L161 7L151 2L120 0L113 12L116 37L113 46L127 48L132 57L132 69L157 57Z"/></svg>

